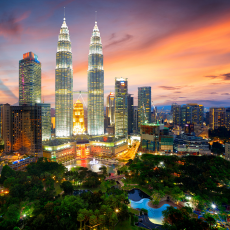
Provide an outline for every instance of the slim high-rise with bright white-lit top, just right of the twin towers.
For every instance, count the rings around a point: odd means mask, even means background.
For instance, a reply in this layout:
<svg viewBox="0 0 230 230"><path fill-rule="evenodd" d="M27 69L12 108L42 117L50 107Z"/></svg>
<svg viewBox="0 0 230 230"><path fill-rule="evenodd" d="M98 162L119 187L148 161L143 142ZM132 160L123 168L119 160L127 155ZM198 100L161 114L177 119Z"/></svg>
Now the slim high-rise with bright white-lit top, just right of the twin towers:
<svg viewBox="0 0 230 230"><path fill-rule="evenodd" d="M115 136L128 135L128 80L115 78Z"/></svg>

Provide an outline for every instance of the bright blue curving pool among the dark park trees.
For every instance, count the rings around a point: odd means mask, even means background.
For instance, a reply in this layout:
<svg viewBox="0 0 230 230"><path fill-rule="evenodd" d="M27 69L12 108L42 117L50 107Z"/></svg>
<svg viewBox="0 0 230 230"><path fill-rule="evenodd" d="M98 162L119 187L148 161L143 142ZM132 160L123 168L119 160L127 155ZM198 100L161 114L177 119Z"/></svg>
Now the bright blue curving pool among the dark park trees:
<svg viewBox="0 0 230 230"><path fill-rule="evenodd" d="M150 201L150 199L148 199L148 198L144 198L140 201L132 201L131 200L131 207L132 208L138 208L138 209L142 209L142 208L147 209L149 220L154 224L162 224L163 218L164 218L162 211L166 210L167 207L170 205L164 204L160 208L151 208L148 206L149 201Z"/></svg>

